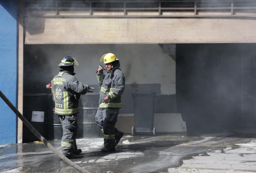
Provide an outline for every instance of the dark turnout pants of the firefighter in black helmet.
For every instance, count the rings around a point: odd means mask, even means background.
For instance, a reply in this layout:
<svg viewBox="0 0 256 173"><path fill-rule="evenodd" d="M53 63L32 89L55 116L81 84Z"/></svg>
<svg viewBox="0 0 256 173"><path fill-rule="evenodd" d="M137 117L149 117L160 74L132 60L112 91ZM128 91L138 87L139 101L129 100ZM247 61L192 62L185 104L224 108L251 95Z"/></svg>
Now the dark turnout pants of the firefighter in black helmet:
<svg viewBox="0 0 256 173"><path fill-rule="evenodd" d="M62 124L63 135L61 141L61 152L73 154L76 146L76 129L78 129L76 115L58 115Z"/></svg>

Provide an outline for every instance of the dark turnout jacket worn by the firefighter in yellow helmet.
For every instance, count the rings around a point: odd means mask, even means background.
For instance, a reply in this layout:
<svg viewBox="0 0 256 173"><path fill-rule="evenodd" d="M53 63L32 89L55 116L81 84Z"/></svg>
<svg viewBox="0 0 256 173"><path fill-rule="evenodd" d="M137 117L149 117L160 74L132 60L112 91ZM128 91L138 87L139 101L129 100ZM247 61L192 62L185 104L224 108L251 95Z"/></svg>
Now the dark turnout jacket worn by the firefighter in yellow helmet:
<svg viewBox="0 0 256 173"><path fill-rule="evenodd" d="M120 68L106 70L97 74L97 79L100 85L100 108L122 108L123 105L123 91L125 85L125 77ZM103 103L104 98L110 98L109 103Z"/></svg>

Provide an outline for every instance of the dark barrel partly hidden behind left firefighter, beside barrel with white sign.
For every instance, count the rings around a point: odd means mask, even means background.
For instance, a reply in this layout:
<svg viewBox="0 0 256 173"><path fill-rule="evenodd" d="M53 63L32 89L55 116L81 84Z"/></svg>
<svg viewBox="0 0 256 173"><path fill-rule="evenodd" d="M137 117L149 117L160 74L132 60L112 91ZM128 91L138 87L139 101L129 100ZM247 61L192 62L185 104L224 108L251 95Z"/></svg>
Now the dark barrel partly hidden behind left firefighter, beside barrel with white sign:
<svg viewBox="0 0 256 173"><path fill-rule="evenodd" d="M62 124L59 120L59 116L55 114L55 102L52 94L48 94L48 122L47 122L47 130L48 130L48 139L61 139L63 130Z"/></svg>

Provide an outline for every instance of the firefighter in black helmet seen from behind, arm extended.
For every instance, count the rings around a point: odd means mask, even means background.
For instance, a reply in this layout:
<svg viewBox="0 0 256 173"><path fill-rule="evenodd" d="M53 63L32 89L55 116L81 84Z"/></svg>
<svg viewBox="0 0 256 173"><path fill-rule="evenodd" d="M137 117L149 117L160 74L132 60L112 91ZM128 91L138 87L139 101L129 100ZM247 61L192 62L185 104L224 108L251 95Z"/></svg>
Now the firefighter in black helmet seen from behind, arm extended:
<svg viewBox="0 0 256 173"><path fill-rule="evenodd" d="M55 100L55 113L62 124L63 136L61 152L68 158L75 158L81 153L76 146L76 129L78 128L76 115L79 112L78 99L86 94L89 86L79 82L74 77L74 65L78 66L76 58L65 56L59 63L60 72L51 81L52 95Z"/></svg>

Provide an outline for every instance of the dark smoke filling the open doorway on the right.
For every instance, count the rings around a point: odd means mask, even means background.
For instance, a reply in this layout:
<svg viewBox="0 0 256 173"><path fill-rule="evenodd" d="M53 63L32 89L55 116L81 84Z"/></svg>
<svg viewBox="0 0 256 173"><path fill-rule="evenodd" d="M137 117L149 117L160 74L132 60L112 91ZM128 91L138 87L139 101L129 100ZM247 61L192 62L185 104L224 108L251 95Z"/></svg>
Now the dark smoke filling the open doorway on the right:
<svg viewBox="0 0 256 173"><path fill-rule="evenodd" d="M254 47L255 44L177 45L177 102L188 133L253 127Z"/></svg>

